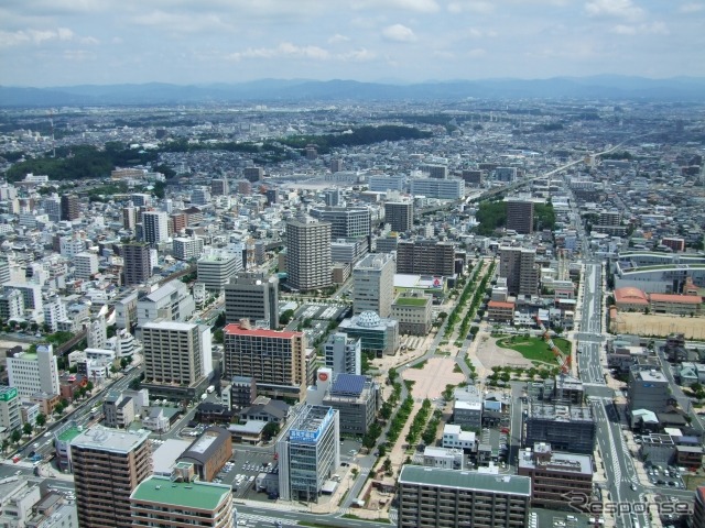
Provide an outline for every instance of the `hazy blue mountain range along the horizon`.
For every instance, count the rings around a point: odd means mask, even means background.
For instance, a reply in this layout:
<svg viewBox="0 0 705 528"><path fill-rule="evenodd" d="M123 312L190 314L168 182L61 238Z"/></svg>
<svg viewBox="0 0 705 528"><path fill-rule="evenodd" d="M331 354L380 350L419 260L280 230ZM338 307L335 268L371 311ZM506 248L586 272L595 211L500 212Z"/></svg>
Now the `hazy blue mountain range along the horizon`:
<svg viewBox="0 0 705 528"><path fill-rule="evenodd" d="M286 103L313 101L457 101L479 99L608 99L705 101L705 78L626 76L427 81L410 85L355 80L262 79L240 84L79 85L52 88L0 86L0 107L102 105Z"/></svg>

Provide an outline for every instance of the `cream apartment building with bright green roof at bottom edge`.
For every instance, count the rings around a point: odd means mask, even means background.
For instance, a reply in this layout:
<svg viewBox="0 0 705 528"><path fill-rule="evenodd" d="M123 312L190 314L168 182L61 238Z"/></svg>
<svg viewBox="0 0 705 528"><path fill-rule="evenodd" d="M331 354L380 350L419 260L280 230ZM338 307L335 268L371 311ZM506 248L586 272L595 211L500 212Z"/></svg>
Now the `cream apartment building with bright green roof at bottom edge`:
<svg viewBox="0 0 705 528"><path fill-rule="evenodd" d="M185 473L187 465L180 464L176 471ZM133 528L236 526L237 512L232 506L230 485L200 482L188 476L152 475L134 488L130 505Z"/></svg>

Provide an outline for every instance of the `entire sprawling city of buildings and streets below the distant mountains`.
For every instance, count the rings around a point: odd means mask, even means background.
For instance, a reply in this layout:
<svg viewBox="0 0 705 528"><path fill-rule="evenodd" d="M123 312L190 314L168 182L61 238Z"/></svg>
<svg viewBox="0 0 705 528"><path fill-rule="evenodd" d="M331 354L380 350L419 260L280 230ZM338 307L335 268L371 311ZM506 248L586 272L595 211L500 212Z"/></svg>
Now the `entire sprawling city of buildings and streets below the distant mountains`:
<svg viewBox="0 0 705 528"><path fill-rule="evenodd" d="M4 108L0 526L705 526L704 110Z"/></svg>

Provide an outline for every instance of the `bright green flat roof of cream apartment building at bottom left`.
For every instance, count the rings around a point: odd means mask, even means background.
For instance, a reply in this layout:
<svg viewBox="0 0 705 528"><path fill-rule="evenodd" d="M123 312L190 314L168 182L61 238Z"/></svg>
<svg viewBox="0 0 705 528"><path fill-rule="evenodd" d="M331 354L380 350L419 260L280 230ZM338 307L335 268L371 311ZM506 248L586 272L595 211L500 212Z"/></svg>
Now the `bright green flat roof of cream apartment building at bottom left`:
<svg viewBox="0 0 705 528"><path fill-rule="evenodd" d="M230 495L230 486L208 482L172 482L151 476L132 492L131 498L193 509L215 510Z"/></svg>

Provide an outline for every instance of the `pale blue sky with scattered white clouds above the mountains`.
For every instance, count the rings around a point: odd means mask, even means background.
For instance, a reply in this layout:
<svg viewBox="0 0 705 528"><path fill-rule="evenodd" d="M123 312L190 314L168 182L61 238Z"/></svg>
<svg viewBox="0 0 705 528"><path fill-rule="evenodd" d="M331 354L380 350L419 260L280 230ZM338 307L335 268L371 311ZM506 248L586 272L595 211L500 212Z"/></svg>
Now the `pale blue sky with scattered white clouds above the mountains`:
<svg viewBox="0 0 705 528"><path fill-rule="evenodd" d="M705 76L705 0L2 0L0 85Z"/></svg>

